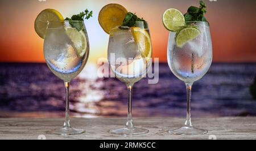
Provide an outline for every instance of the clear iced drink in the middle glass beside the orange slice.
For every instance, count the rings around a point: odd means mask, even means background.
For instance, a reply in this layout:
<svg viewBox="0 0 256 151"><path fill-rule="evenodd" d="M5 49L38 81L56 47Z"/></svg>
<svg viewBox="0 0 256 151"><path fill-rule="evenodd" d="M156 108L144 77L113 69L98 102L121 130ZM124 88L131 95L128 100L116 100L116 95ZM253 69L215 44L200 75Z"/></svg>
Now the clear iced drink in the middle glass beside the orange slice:
<svg viewBox="0 0 256 151"><path fill-rule="evenodd" d="M126 27L128 28L128 27ZM141 54L130 29L117 30L109 37L108 60L115 77L125 83L136 83L146 76L151 59Z"/></svg>

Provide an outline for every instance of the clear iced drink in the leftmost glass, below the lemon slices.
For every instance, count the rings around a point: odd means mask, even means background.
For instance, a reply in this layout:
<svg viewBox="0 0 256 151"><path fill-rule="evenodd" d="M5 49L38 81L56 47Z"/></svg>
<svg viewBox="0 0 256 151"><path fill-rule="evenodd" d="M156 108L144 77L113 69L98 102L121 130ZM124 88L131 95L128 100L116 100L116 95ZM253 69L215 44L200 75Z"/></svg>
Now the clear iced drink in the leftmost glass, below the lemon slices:
<svg viewBox="0 0 256 151"><path fill-rule="evenodd" d="M89 56L89 48L87 42L85 52L81 55L67 35L67 28L72 27L49 27L47 29L44 56L53 74L64 81L71 81L84 68ZM85 31L80 32L86 35Z"/></svg>

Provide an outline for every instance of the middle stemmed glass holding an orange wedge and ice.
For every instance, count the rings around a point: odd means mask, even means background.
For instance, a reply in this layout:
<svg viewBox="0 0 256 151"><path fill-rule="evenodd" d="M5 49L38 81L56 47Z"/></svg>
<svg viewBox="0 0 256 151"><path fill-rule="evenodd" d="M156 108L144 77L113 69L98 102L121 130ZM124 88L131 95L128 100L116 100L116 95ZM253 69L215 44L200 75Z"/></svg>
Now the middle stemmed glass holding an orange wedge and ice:
<svg viewBox="0 0 256 151"><path fill-rule="evenodd" d="M108 46L109 66L115 77L124 82L128 89L128 114L126 126L110 130L118 135L141 135L148 133L144 128L133 126L131 95L134 83L147 74L152 64L151 38L146 21L136 21L136 27L118 26L110 31Z"/></svg>

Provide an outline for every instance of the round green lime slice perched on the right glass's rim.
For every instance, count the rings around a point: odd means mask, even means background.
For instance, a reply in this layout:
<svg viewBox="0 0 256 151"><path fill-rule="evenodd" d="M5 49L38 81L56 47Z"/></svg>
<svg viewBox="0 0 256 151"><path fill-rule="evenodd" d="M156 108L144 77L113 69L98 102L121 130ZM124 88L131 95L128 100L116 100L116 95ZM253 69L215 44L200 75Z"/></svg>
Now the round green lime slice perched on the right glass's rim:
<svg viewBox="0 0 256 151"><path fill-rule="evenodd" d="M168 31L176 32L185 24L183 14L175 8L166 10L163 14L163 25Z"/></svg>

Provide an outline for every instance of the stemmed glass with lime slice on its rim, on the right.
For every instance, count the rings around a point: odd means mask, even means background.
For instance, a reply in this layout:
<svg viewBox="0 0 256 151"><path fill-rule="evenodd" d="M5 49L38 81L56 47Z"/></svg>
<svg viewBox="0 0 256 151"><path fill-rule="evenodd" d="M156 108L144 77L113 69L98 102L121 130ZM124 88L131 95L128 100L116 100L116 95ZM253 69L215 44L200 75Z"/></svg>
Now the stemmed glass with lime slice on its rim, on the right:
<svg viewBox="0 0 256 151"><path fill-rule="evenodd" d="M204 134L207 130L195 128L191 123L191 89L195 81L201 79L212 63L212 40L208 22L187 21L185 27L196 28L199 36L187 41L182 48L176 45L176 32L170 32L167 58L172 73L184 81L187 89L187 120L181 128L170 130L170 133L181 135ZM184 27L181 27L184 28ZM190 33L187 33L189 37Z"/></svg>

